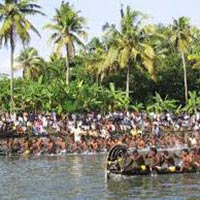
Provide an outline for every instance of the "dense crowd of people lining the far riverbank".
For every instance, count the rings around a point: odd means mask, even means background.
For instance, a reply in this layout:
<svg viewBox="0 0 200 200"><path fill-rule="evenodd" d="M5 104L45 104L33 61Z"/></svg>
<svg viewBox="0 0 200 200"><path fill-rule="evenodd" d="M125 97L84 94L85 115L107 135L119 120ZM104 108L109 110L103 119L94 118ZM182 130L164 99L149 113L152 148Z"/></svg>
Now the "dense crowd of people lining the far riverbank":
<svg viewBox="0 0 200 200"><path fill-rule="evenodd" d="M130 148L197 148L200 113L96 112L57 115L32 112L0 115L2 154L41 155L106 152L123 143Z"/></svg>

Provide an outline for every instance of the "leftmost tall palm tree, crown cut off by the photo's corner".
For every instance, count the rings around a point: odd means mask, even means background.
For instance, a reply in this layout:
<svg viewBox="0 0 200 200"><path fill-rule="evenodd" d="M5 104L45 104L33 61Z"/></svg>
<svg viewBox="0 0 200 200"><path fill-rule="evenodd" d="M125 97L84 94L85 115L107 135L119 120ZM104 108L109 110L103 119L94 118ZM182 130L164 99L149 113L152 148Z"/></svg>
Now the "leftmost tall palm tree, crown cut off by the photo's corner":
<svg viewBox="0 0 200 200"><path fill-rule="evenodd" d="M17 38L21 40L23 44L27 44L30 41L29 31L35 32L40 36L37 29L27 19L28 15L42 14L40 6L32 3L33 0L4 0L4 3L0 3L0 22L2 23L0 28L0 46L9 45L11 49L11 77L10 77L10 112L13 112L14 97L13 97L13 64L14 64L14 52L16 47Z"/></svg>

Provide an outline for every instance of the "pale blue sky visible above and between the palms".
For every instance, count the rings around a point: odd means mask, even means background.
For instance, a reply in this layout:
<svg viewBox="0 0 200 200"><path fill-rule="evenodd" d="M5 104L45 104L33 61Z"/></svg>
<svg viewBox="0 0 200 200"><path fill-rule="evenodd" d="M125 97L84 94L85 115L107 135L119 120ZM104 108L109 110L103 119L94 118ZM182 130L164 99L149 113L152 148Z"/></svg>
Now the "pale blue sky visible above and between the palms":
<svg viewBox="0 0 200 200"><path fill-rule="evenodd" d="M0 0L3 2L4 0ZM32 23L37 27L42 35L38 38L32 36L30 46L38 49L42 57L48 58L53 51L47 40L51 32L44 30L43 26L50 22L55 13L55 8L59 7L62 0L38 0L46 13L46 17L35 16L31 18ZM191 18L191 23L200 27L200 0L69 0L76 10L81 10L81 15L87 19L87 30L89 39L93 36L101 36L102 26L106 23L119 24L120 5L130 5L136 10L140 10L151 16L150 22L171 23L173 18L187 16ZM19 54L21 46L18 44L16 56ZM10 72L9 49L0 49L0 73Z"/></svg>

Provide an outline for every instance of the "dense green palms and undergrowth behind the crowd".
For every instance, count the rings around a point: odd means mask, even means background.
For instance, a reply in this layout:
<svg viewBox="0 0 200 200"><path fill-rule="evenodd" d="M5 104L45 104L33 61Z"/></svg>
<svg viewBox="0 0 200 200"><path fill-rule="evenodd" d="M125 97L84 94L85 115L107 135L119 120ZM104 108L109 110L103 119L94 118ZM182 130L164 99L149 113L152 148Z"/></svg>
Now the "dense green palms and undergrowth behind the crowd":
<svg viewBox="0 0 200 200"><path fill-rule="evenodd" d="M44 25L56 47L45 60L28 46L29 32L40 34L27 16L44 15L41 7L31 0L0 3L0 45L10 47L12 69L10 79L0 78L0 110L199 110L200 30L187 17L163 25L147 24L129 6L120 13L119 24L106 23L101 38L85 43L85 18L62 2ZM24 49L14 59L17 41ZM17 69L23 77L13 80Z"/></svg>

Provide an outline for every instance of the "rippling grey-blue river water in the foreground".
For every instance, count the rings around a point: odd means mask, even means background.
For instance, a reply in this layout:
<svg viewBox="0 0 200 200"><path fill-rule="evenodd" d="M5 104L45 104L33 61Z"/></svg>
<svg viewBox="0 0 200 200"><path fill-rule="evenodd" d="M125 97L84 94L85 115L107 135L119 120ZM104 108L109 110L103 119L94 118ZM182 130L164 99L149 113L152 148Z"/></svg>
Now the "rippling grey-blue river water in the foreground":
<svg viewBox="0 0 200 200"><path fill-rule="evenodd" d="M200 174L106 182L104 165L104 155L1 157L0 199L200 199Z"/></svg>

